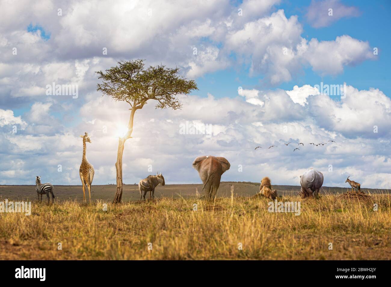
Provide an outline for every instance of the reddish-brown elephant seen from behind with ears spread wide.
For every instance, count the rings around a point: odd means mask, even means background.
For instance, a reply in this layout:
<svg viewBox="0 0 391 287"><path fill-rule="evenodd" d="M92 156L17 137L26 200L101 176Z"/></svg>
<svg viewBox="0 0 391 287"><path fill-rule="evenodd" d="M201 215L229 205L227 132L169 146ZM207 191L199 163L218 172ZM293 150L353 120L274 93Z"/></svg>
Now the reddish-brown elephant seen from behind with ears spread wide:
<svg viewBox="0 0 391 287"><path fill-rule="evenodd" d="M214 200L220 186L221 175L230 169L230 163L224 157L202 155L193 161L193 168L202 180L205 198Z"/></svg>

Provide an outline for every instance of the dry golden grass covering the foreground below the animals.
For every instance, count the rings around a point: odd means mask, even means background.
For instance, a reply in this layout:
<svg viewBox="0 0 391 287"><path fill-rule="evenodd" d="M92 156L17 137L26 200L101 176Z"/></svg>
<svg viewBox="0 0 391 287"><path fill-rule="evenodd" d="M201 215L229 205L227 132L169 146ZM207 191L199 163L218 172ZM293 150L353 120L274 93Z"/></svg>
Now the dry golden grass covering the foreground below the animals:
<svg viewBox="0 0 391 287"><path fill-rule="evenodd" d="M300 216L269 213L270 200L256 197L217 198L215 203L161 198L117 206L33 202L31 216L0 213L0 258L391 259L389 194L364 201L336 195L277 199L300 201Z"/></svg>

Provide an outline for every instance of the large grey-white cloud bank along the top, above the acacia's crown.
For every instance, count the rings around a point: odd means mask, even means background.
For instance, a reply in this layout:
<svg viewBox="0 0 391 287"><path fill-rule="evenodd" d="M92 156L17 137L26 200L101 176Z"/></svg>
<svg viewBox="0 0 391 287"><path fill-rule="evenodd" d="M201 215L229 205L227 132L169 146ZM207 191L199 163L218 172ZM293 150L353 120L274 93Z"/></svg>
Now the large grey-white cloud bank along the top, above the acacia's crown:
<svg viewBox="0 0 391 287"><path fill-rule="evenodd" d="M203 5L198 1L46 2L47 6L36 9L0 5L7 15L0 22L4 56L0 82L8 83L3 89L12 96L38 96L53 80L83 85L102 62L136 57L150 64L178 65L187 77L195 78L233 66L235 55L236 64L249 65L250 75L262 75L272 85L292 80L303 72L303 65L310 64L321 75L335 75L346 65L374 59L368 43L349 36L335 41L302 38L298 16L287 18L282 9L269 14L278 0L249 0L237 6L228 0ZM63 16L53 13L53 7L60 6ZM97 21L91 23L86 11ZM27 32L30 23L51 33L50 40L42 39L39 30ZM17 55L10 52L13 47ZM107 55L102 54L103 48ZM3 76L2 66L9 63L20 72L8 68Z"/></svg>

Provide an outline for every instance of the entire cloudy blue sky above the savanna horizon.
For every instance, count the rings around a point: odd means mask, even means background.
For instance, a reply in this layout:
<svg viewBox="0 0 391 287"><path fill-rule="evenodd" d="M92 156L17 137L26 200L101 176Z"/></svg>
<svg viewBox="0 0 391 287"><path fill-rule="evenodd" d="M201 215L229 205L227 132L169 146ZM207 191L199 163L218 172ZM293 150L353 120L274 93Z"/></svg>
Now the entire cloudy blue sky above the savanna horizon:
<svg viewBox="0 0 391 287"><path fill-rule="evenodd" d="M115 182L116 136L129 107L96 91L95 71L146 59L178 66L199 91L180 98L180 111L150 102L136 112L125 183L150 174L149 165L166 183L199 183L191 162L216 155L231 163L222 180L298 185L315 168L328 186L350 175L362 187L391 187L389 1L74 0L61 2L61 16L58 3L0 6L0 184L33 184L36 175L80 184L84 132L93 184ZM47 95L52 82L77 86L77 98ZM348 96L320 95L321 82L346 82ZM213 129L181 134L185 123ZM289 141L308 143L292 153Z"/></svg>

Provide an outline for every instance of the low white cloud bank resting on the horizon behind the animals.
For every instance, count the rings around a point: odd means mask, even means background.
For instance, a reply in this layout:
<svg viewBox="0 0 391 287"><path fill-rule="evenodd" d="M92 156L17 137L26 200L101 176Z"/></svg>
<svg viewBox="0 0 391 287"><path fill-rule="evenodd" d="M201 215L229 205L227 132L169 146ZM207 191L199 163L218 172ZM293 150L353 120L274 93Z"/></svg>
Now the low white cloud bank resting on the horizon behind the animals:
<svg viewBox="0 0 391 287"><path fill-rule="evenodd" d="M258 96L264 105L252 104L242 97L212 95L181 96L183 109L178 111L155 110L149 103L136 112L133 138L126 142L124 182L133 184L148 175L149 164L153 171L161 171L168 183L199 182L191 162L206 154L221 155L230 161L231 169L222 180L259 181L262 176L270 176L276 184L298 185L298 176L313 167L324 173L326 186L344 186L344 180L351 175L361 181L362 187L389 187L390 99L377 89L359 91L351 86L347 86L346 98L340 100L308 95L314 89L305 85L287 92L245 91L250 98ZM291 92L293 96L288 94ZM368 99L372 99L370 103ZM366 109L359 111L363 103ZM80 113L83 121L63 133L7 136L2 146L11 152L8 157L24 163L0 164L0 170L5 172L0 180L10 183L9 176L20 169L27 173L27 179L45 171L54 182L79 184L77 169L83 149L79 134L88 132L92 143L87 145L87 157L98 171L94 183L115 182L115 132L127 125L128 106L91 95ZM210 124L212 134L181 134L180 126L186 121L197 127ZM377 134L373 133L374 123L379 127ZM336 143L328 142L331 139ZM289 146L283 145L289 141ZM300 147L300 153L293 153L300 142L305 146ZM308 144L311 142L327 144L312 146ZM278 147L267 149L272 144ZM254 151L258 145L262 150ZM38 152L43 156L37 158L34 154ZM357 161L362 164L357 165ZM57 172L58 164L65 172ZM239 164L243 172L238 172ZM329 164L333 165L332 173L328 172Z"/></svg>

